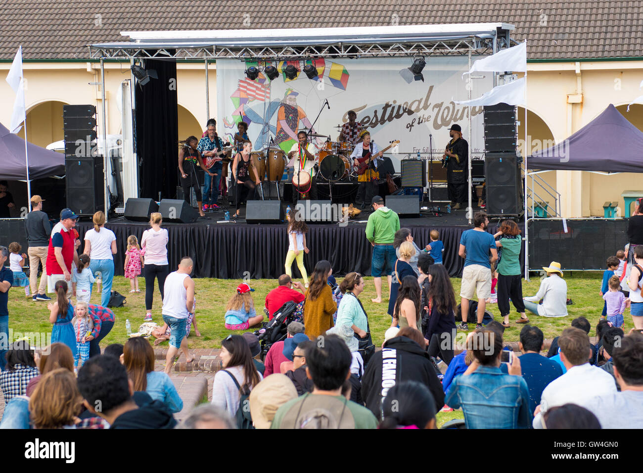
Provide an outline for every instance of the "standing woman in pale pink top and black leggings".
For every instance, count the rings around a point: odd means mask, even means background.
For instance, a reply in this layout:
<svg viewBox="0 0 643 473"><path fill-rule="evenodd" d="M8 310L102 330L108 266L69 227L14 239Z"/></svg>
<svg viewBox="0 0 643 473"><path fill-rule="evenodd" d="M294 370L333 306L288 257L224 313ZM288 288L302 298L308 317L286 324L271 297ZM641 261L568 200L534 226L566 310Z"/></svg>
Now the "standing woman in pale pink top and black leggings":
<svg viewBox="0 0 643 473"><path fill-rule="evenodd" d="M150 228L143 232L141 248L143 249L143 276L145 277L145 321L152 320L152 302L154 302L154 278L158 279L161 301L163 301L163 285L169 273L167 261L168 233L161 228L163 218L159 212L150 214Z"/></svg>

